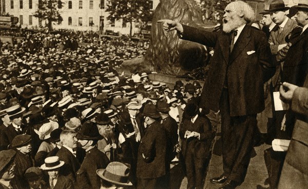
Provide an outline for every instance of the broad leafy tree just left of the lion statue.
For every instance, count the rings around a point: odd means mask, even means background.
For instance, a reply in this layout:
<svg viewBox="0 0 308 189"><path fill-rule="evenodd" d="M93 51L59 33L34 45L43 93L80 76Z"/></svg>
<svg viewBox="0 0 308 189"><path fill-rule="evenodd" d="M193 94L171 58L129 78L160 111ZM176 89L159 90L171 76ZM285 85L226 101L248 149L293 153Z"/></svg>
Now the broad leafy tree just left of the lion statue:
<svg viewBox="0 0 308 189"><path fill-rule="evenodd" d="M123 19L123 22L144 23L152 20L152 1L151 0L112 0L108 3L106 11L109 13L108 20Z"/></svg>

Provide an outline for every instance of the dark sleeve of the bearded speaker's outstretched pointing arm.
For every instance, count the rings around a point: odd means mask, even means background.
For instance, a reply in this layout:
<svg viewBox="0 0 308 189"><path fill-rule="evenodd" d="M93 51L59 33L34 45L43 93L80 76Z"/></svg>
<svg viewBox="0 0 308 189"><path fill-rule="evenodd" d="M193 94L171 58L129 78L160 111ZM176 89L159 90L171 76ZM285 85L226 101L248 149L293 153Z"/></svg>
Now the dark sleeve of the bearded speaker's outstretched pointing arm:
<svg viewBox="0 0 308 189"><path fill-rule="evenodd" d="M181 39L196 42L207 47L215 47L218 34L217 32L208 32L186 25L182 26L183 35L181 36Z"/></svg>

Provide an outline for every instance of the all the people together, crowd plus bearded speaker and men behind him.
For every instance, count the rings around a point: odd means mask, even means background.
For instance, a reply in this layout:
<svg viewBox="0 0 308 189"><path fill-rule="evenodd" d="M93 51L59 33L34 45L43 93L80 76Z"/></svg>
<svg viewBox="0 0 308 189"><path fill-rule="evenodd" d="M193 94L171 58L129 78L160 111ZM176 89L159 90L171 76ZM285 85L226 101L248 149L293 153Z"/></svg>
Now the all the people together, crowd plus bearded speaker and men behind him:
<svg viewBox="0 0 308 189"><path fill-rule="evenodd" d="M38 32L2 45L0 188L171 188L174 162L187 188L203 188L216 134L209 109L221 114L223 157L223 173L211 183L236 188L254 146L288 139L264 151L268 188L305 188L308 2L287 15L283 1L273 1L260 13L264 26L249 25L248 4L232 4L243 9L228 5L220 31L158 21L214 48L203 90L198 81L169 86L146 70L115 70L143 55L147 42L101 38L80 46L78 37ZM290 109L272 109L278 91ZM272 115L262 138L264 108Z"/></svg>

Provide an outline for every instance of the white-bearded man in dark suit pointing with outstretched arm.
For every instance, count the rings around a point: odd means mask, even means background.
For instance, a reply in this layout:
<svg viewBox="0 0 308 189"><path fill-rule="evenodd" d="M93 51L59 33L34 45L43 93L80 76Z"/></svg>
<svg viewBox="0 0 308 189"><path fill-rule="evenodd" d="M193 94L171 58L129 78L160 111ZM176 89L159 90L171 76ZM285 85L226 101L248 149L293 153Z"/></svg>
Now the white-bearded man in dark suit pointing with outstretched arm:
<svg viewBox="0 0 308 189"><path fill-rule="evenodd" d="M240 185L246 176L257 129L257 113L264 109L263 82L275 66L265 34L247 24L254 10L242 1L226 6L222 31L206 32L163 19L166 31L176 30L181 39L214 47L199 108L221 112L223 174L211 179L220 188Z"/></svg>

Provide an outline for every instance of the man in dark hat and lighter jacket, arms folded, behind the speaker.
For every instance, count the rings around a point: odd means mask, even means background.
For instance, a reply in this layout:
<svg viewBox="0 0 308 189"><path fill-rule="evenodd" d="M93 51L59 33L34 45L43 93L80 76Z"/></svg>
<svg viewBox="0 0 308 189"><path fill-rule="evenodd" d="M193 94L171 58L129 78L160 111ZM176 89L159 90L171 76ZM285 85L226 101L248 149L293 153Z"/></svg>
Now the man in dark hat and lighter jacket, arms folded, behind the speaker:
<svg viewBox="0 0 308 189"><path fill-rule="evenodd" d="M286 11L288 7L285 7L282 0L275 0L269 5L268 12L271 13L272 20L278 25L278 29L271 32L269 35L268 43L271 47L271 52L276 56L277 68L276 73L272 78L272 84L274 89L278 91L278 85L280 82L280 72L283 65L283 59L289 49L285 38L292 32L292 30L298 27L295 20L290 19L286 16Z"/></svg>

